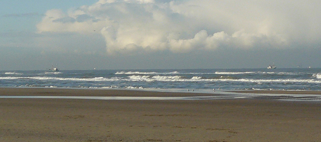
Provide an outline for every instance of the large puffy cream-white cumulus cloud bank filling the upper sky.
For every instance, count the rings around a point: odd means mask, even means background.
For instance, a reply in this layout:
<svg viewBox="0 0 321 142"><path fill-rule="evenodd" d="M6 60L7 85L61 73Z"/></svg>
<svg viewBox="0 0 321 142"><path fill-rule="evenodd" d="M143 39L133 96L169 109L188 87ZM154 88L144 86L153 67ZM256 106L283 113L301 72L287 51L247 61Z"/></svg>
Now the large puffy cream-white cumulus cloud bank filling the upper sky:
<svg viewBox="0 0 321 142"><path fill-rule="evenodd" d="M298 41L319 42L319 3L100 0L67 13L49 10L37 28L100 35L109 54L290 48Z"/></svg>

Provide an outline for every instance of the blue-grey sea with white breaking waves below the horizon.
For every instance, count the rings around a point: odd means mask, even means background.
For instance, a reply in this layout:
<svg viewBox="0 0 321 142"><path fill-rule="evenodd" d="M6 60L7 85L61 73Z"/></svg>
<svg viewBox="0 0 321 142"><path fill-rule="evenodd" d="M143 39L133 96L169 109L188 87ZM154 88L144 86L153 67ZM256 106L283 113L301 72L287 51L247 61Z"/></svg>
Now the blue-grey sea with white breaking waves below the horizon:
<svg viewBox="0 0 321 142"><path fill-rule="evenodd" d="M321 90L321 68L0 71L0 87Z"/></svg>

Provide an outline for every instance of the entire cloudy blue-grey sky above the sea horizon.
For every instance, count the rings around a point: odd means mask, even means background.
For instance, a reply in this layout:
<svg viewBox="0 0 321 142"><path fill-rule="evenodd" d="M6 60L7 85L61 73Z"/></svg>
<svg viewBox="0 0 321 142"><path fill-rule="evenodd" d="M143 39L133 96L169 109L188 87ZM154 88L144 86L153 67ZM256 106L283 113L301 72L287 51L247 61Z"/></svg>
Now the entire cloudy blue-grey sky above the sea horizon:
<svg viewBox="0 0 321 142"><path fill-rule="evenodd" d="M0 0L0 70L321 67L321 1Z"/></svg>

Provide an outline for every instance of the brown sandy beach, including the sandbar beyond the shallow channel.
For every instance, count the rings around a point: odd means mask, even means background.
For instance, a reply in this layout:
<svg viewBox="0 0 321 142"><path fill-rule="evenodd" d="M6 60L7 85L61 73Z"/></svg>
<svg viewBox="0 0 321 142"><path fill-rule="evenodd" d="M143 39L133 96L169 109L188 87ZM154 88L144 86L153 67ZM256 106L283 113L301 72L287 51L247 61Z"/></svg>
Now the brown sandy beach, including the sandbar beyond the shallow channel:
<svg viewBox="0 0 321 142"><path fill-rule="evenodd" d="M112 89L0 88L0 95L211 96L217 94ZM0 113L0 141L223 142L321 139L319 102L270 99L0 98Z"/></svg>

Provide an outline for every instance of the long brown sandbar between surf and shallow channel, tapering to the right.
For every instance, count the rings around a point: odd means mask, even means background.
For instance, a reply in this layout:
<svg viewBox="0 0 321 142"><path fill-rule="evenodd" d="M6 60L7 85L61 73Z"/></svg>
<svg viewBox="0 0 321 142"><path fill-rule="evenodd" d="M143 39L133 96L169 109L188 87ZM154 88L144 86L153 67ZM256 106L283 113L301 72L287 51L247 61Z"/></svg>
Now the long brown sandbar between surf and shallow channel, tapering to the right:
<svg viewBox="0 0 321 142"><path fill-rule="evenodd" d="M83 89L83 88L18 88L0 87L0 95L15 96L136 96L136 97L190 97L211 96L211 93L163 92L136 89Z"/></svg>

